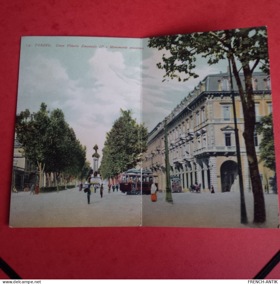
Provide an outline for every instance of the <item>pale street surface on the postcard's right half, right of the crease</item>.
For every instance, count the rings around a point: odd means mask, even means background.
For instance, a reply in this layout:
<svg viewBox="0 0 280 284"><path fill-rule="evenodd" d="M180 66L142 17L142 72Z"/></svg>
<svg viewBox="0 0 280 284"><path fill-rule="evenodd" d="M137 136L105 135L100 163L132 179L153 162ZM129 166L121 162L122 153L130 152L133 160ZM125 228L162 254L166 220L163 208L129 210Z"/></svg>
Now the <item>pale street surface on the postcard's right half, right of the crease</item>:
<svg viewBox="0 0 280 284"><path fill-rule="evenodd" d="M240 193L172 193L173 204L165 201L165 193L157 193L157 202L143 195L142 226L220 227L220 228L277 228L278 195L265 194L267 221L253 224L252 193L245 193L248 224L240 224Z"/></svg>

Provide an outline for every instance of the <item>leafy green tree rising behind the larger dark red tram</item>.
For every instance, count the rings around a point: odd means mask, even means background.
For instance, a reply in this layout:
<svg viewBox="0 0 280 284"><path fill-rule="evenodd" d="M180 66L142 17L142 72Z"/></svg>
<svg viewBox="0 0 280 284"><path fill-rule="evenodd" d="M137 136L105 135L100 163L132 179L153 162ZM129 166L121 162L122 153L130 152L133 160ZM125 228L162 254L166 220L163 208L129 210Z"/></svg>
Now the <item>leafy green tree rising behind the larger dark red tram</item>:
<svg viewBox="0 0 280 284"><path fill-rule="evenodd" d="M100 172L103 178L135 168L141 161L140 154L147 151L148 131L131 117L131 110L122 110L112 129L107 133Z"/></svg>

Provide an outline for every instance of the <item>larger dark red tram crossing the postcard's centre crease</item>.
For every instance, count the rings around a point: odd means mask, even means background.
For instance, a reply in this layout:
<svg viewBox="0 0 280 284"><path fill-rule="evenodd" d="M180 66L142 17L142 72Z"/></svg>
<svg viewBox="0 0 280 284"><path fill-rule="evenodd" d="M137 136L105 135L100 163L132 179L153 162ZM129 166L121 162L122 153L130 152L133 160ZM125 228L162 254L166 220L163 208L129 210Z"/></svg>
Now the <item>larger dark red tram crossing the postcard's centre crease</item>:
<svg viewBox="0 0 280 284"><path fill-rule="evenodd" d="M151 194L153 182L158 188L157 176L149 171L142 171L141 174L140 170L128 170L121 174L120 191L127 194Z"/></svg>

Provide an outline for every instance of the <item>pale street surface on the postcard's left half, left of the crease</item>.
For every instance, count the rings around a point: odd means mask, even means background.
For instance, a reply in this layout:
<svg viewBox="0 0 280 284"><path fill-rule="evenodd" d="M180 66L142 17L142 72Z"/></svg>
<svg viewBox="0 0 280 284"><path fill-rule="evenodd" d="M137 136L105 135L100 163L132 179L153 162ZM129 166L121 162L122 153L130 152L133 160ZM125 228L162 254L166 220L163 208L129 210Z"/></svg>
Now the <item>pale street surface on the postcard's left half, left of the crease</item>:
<svg viewBox="0 0 280 284"><path fill-rule="evenodd" d="M126 195L120 191L108 194L104 186L91 193L78 187L51 193L30 195L30 192L12 193L11 227L100 227L139 226L141 223L141 196Z"/></svg>

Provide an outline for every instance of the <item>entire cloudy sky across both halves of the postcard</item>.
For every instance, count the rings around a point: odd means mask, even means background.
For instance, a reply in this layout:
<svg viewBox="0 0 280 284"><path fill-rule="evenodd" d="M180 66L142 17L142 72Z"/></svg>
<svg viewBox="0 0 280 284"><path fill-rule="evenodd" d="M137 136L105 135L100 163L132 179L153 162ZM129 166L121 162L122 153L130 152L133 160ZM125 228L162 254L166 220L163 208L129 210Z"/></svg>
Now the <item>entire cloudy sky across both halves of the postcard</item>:
<svg viewBox="0 0 280 284"><path fill-rule="evenodd" d="M87 146L92 164L92 148L97 144L102 154L106 132L120 117L120 108L131 109L137 122L142 119L151 131L207 74L227 71L226 60L209 66L198 58L195 72L199 78L162 82L165 73L156 64L166 51L147 47L148 40L22 37L17 113L26 108L37 112L42 102L49 110L60 108L81 144Z"/></svg>

